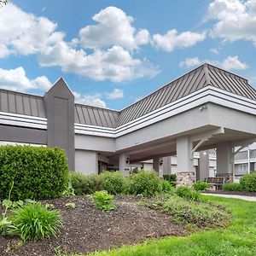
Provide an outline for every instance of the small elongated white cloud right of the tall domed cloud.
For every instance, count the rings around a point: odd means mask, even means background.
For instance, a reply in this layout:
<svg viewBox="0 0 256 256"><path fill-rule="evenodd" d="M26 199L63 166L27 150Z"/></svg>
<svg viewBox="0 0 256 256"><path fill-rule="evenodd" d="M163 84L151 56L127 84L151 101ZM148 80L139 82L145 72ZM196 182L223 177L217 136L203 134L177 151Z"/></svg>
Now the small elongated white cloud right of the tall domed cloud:
<svg viewBox="0 0 256 256"><path fill-rule="evenodd" d="M203 41L206 38L206 33L182 32L177 33L176 29L166 32L165 35L155 34L153 36L154 44L168 52L177 48L187 48Z"/></svg>

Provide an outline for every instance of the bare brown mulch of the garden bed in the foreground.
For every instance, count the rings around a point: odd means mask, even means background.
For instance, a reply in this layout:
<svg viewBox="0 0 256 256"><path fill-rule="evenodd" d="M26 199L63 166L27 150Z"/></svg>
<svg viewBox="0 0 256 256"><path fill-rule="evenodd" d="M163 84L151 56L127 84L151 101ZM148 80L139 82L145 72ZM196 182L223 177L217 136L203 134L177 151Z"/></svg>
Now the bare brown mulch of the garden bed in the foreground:
<svg viewBox="0 0 256 256"><path fill-rule="evenodd" d="M65 226L59 236L27 242L21 247L17 246L17 237L0 236L0 255L54 256L57 247L67 253L89 253L135 244L148 238L185 236L189 233L183 226L174 224L170 216L144 207L138 201L137 197L116 196L116 209L111 212L97 210L90 198L85 196L46 201L61 211ZM74 202L76 208L67 209L64 207L67 202Z"/></svg>

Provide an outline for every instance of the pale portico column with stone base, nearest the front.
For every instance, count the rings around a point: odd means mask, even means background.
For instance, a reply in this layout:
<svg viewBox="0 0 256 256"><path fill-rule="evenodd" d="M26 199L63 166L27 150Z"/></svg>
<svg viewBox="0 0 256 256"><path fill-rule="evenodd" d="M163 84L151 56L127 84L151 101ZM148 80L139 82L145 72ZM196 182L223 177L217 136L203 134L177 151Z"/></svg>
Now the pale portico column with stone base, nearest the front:
<svg viewBox="0 0 256 256"><path fill-rule="evenodd" d="M195 182L194 158L189 136L177 138L177 186L191 187Z"/></svg>

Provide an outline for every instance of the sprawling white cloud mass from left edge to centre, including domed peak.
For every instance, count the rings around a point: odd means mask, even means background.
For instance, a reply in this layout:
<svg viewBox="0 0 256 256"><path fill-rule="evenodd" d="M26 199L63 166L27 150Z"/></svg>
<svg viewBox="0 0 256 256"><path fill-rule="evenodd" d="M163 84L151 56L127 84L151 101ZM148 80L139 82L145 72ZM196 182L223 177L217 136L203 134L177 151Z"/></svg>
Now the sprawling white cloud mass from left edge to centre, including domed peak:
<svg viewBox="0 0 256 256"><path fill-rule="evenodd" d="M107 8L93 19L99 22L97 28L85 26L80 31L81 38L66 42L65 33L56 31L56 23L45 17L28 14L9 3L0 9L0 58L11 53L36 54L42 67L58 66L64 72L113 82L151 78L159 73L158 68L147 60L134 57L131 49L147 44L149 33L147 30L137 32L131 26L133 19L130 16L125 15L121 9ZM108 32L105 26L109 26ZM95 32L99 32L97 36L102 38L94 38ZM108 45L111 46L98 48ZM84 47L96 48L87 54Z"/></svg>

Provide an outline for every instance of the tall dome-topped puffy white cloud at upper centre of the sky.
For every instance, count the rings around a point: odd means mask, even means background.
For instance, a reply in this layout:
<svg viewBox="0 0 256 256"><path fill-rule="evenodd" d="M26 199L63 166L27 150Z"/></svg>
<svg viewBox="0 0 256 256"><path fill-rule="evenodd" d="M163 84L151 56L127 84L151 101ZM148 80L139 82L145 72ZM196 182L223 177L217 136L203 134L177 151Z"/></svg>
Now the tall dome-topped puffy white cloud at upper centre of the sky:
<svg viewBox="0 0 256 256"><path fill-rule="evenodd" d="M79 32L80 44L84 48L102 48L120 45L127 49L137 49L140 44L148 44L146 29L137 32L131 26L133 18L119 8L110 6L92 17L98 24L84 26Z"/></svg>

